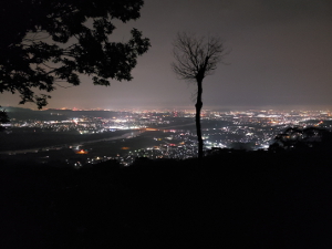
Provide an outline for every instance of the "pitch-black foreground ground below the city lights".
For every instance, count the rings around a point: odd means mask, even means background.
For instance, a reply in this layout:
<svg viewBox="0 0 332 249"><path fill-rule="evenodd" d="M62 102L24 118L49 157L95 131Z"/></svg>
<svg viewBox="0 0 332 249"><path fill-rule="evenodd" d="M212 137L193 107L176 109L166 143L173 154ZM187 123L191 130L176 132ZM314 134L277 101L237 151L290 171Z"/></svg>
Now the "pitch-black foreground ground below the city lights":
<svg viewBox="0 0 332 249"><path fill-rule="evenodd" d="M0 248L332 248L332 153L0 169Z"/></svg>

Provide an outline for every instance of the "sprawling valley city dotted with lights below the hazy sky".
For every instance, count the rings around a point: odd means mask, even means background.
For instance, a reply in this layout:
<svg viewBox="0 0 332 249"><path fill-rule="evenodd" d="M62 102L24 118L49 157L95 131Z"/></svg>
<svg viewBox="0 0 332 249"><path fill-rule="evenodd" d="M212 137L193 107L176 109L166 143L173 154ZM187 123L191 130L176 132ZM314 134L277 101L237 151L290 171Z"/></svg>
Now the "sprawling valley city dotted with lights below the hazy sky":
<svg viewBox="0 0 332 249"><path fill-rule="evenodd" d="M49 163L52 162L49 154L58 153L53 155L58 162L79 167L107 159L128 166L141 157L186 159L197 154L194 111L46 110L33 113L42 115L11 118L6 136L39 134L38 137L48 139L50 134L55 134L75 138L52 142L52 145L37 142L19 149L4 147L2 155L13 158L30 154L38 162ZM201 126L206 152L212 148L257 151L268 149L276 135L290 126L331 131L332 116L329 111L205 111Z"/></svg>

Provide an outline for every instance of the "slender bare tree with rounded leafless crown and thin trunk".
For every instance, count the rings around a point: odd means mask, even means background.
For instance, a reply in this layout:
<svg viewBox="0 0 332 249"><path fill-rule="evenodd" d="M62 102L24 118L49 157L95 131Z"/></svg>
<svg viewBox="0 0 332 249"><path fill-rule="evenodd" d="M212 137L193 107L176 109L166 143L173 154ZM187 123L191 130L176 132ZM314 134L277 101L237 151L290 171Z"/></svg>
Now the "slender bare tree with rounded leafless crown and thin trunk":
<svg viewBox="0 0 332 249"><path fill-rule="evenodd" d="M181 80L194 81L197 83L196 98L196 132L198 139L198 158L203 158L203 138L200 127L200 111L203 106L201 93L203 80L210 75L217 64L225 55L225 48L218 37L200 37L194 34L178 33L174 43L175 62L172 64L173 71Z"/></svg>

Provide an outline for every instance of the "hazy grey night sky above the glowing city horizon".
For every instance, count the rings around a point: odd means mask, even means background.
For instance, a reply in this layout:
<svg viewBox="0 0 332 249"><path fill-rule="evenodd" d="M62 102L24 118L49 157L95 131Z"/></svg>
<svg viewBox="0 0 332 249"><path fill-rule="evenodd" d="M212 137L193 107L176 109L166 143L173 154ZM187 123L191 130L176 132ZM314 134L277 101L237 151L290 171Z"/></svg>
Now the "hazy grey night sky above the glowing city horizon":
<svg viewBox="0 0 332 249"><path fill-rule="evenodd" d="M170 69L177 32L219 35L229 54L204 80L204 108L329 107L332 110L331 0L145 0L141 19L117 23L115 41L134 27L151 39L131 82L51 93L46 107L194 108L195 84ZM2 94L1 105L18 106ZM35 107L25 104L22 107Z"/></svg>

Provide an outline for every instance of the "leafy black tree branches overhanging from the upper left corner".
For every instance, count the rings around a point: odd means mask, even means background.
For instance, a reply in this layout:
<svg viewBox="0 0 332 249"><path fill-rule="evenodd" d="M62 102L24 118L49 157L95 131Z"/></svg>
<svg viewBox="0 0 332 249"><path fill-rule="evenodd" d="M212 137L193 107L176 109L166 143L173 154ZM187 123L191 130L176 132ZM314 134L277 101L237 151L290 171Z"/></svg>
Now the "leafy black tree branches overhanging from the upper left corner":
<svg viewBox="0 0 332 249"><path fill-rule="evenodd" d="M95 85L132 80L137 56L149 40L133 29L126 42L112 42L115 19L139 18L143 0L10 0L0 7L0 92L19 93L21 104L48 104L60 82ZM61 85L60 85L61 86ZM41 92L41 94L35 93Z"/></svg>

